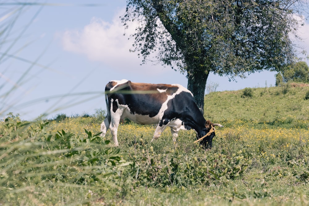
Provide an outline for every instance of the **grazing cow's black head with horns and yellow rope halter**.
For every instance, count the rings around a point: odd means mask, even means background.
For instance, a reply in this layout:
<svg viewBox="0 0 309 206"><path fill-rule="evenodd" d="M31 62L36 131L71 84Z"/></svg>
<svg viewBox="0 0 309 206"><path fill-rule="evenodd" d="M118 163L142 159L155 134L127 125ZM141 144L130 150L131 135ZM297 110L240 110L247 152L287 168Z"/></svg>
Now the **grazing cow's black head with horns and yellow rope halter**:
<svg viewBox="0 0 309 206"><path fill-rule="evenodd" d="M200 137L197 137L197 141L195 142L199 142L205 149L211 148L212 139L216 135L214 128L215 126L223 127L221 124L213 124L210 122L210 120L207 120L205 122L205 128L201 132Z"/></svg>

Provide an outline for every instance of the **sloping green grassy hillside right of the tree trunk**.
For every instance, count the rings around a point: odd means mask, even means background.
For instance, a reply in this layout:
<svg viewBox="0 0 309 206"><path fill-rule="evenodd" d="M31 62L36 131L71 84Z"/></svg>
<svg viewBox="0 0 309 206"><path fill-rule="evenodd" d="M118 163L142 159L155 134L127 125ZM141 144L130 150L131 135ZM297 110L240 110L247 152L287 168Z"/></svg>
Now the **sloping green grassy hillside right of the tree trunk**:
<svg viewBox="0 0 309 206"><path fill-rule="evenodd" d="M305 100L308 86L252 88L252 97L242 97L243 90L212 92L205 96L204 114L212 121L308 120L309 100Z"/></svg>

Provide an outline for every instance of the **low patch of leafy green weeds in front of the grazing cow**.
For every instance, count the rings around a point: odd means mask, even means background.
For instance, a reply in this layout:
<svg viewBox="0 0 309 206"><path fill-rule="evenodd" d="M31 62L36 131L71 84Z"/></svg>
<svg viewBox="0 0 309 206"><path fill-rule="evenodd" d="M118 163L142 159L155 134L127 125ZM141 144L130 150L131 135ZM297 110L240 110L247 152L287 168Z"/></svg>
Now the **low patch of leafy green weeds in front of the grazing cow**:
<svg viewBox="0 0 309 206"><path fill-rule="evenodd" d="M138 185L149 187L220 185L242 176L251 164L241 150L231 156L201 148L190 152L172 149L156 154L153 147L142 149L139 157L130 160L131 173Z"/></svg>

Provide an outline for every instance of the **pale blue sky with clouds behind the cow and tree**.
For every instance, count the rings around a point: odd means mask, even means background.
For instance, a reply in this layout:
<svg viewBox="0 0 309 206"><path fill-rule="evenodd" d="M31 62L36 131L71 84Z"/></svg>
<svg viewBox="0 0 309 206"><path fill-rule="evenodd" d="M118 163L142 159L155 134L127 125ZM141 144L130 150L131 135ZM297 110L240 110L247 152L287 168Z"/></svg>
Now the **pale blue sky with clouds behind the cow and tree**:
<svg viewBox="0 0 309 206"><path fill-rule="evenodd" d="M135 27L125 30L119 18L125 0L3 5L10 2L15 1L0 3L0 31L6 29L0 36L0 118L9 112L23 120L94 114L106 109L104 88L111 80L187 87L185 74L152 62L141 65L137 53L129 52ZM309 48L308 33L305 21L299 30L303 41L297 44ZM218 85L216 91L270 87L275 74L266 71L230 82L211 73L207 82Z"/></svg>

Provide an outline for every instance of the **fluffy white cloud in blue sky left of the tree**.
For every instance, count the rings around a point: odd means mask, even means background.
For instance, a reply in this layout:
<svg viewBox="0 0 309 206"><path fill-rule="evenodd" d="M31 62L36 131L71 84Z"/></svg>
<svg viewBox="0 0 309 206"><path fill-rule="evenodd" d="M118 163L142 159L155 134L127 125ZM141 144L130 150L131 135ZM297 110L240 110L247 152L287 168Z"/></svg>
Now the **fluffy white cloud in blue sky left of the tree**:
<svg viewBox="0 0 309 206"><path fill-rule="evenodd" d="M123 14L123 11L120 13ZM125 30L119 16L115 15L111 23L93 17L81 30L66 30L61 35L63 49L83 54L91 61L102 61L113 69L121 70L130 65L134 68L140 67L142 59L138 58L137 53L129 52L133 39L128 40L128 34L134 32L136 25L130 25L129 29ZM152 64L147 64L150 65ZM162 70L162 66L158 67ZM153 69L154 67L151 70Z"/></svg>

